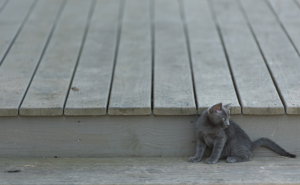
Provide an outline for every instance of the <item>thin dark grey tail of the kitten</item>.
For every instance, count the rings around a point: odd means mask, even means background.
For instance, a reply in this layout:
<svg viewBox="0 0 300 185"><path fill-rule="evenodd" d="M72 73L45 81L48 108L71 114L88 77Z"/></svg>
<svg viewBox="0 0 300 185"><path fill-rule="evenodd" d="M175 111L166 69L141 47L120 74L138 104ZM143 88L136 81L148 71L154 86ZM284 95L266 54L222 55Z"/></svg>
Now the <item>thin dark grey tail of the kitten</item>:
<svg viewBox="0 0 300 185"><path fill-rule="evenodd" d="M277 143L275 143L271 139L268 139L268 138L265 138L265 137L262 137L260 139L257 139L256 141L254 141L252 150L256 147L259 147L259 146L267 147L267 148L269 148L271 150L274 150L278 154L283 155L285 157L293 157L293 158L296 157L296 155L290 154L289 152L287 152L283 148L281 148Z"/></svg>

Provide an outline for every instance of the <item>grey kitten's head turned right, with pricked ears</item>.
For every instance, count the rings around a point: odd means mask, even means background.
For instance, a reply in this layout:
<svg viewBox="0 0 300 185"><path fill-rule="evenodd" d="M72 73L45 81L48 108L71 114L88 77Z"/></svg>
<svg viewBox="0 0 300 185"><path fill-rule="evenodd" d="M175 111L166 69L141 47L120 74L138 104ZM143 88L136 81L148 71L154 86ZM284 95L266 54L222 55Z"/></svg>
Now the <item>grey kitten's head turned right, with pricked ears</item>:
<svg viewBox="0 0 300 185"><path fill-rule="evenodd" d="M221 128L229 126L229 106L231 104L222 105L222 103L215 104L208 108L208 116L213 124L219 125Z"/></svg>

